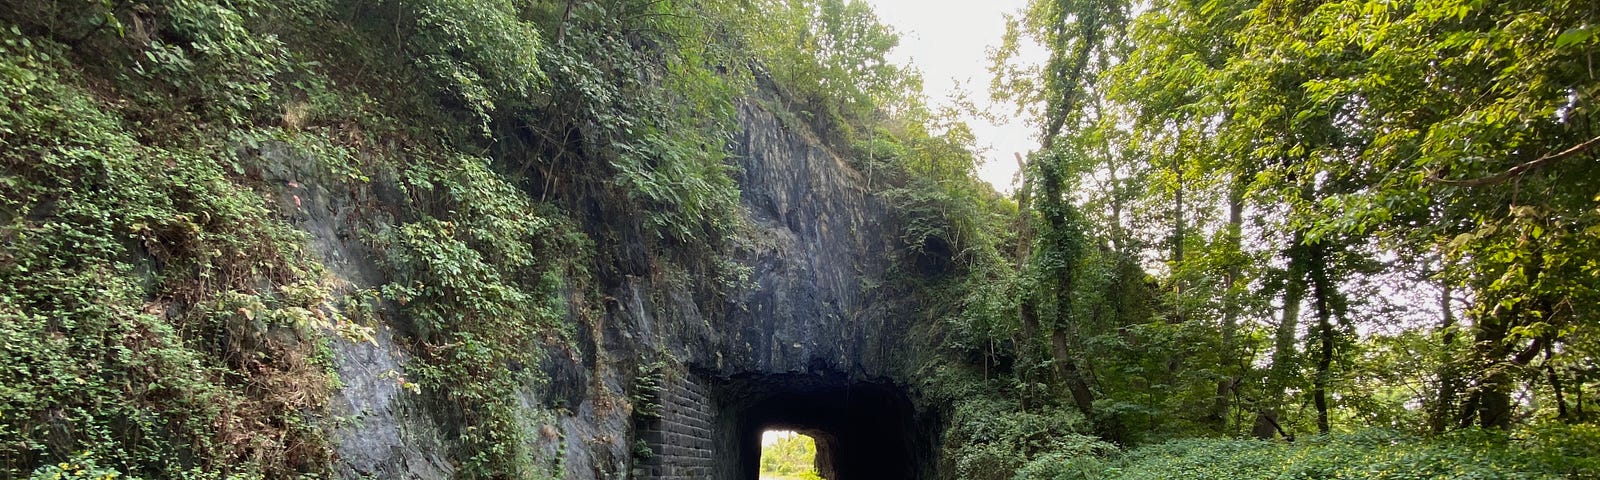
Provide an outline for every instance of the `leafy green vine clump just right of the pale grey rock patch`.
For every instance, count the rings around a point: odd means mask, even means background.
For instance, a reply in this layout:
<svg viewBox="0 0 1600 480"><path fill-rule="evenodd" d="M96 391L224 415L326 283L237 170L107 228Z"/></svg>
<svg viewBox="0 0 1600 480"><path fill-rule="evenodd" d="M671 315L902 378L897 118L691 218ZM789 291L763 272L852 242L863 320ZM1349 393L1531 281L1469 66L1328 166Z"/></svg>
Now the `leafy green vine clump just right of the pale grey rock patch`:
<svg viewBox="0 0 1600 480"><path fill-rule="evenodd" d="M562 243L573 237L485 158L426 155L400 174L419 218L376 243L394 272L384 296L402 306L418 339L419 362L408 371L458 429L462 475L530 475L531 432L517 392L536 381L542 346L565 342L566 301L557 293L582 261L546 259L584 245Z"/></svg>

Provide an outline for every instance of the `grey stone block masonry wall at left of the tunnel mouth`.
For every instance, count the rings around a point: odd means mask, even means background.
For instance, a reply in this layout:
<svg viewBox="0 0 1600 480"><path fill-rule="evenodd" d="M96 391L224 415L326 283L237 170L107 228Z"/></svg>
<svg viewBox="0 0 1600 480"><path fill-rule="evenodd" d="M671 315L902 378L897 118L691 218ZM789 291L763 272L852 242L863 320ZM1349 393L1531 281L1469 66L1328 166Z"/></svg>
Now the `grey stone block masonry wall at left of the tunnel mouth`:
<svg viewBox="0 0 1600 480"><path fill-rule="evenodd" d="M691 374L669 379L661 389L661 418L638 437L654 453L643 459L643 478L691 480L712 475L714 410L706 387Z"/></svg>

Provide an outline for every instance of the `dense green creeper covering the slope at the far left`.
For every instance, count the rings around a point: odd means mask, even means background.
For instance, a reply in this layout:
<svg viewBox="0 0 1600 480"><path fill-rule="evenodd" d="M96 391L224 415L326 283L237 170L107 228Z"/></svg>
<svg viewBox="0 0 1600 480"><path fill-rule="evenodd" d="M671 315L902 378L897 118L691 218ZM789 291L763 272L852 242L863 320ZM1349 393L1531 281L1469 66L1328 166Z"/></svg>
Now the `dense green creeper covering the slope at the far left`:
<svg viewBox="0 0 1600 480"><path fill-rule="evenodd" d="M3 26L0 51L0 470L322 472L341 318L304 237L237 150L149 141L64 45Z"/></svg>

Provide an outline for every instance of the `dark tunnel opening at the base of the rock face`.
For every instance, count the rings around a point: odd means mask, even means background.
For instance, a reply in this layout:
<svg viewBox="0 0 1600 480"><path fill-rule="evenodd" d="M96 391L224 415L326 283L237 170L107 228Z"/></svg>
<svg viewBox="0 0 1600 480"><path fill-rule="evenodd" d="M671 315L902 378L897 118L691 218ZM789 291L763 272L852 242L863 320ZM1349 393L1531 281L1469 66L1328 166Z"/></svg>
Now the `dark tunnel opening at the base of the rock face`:
<svg viewBox="0 0 1600 480"><path fill-rule="evenodd" d="M786 373L736 376L714 390L720 478L758 478L766 430L814 438L822 478L934 475L939 416L920 411L904 386L842 373Z"/></svg>

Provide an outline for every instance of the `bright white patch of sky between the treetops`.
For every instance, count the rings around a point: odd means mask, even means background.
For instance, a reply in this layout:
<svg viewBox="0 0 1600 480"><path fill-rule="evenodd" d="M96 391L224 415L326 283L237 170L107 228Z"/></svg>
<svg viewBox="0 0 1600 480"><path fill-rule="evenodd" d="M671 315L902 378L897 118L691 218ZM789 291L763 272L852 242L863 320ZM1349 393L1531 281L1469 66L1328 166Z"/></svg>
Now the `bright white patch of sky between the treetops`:
<svg viewBox="0 0 1600 480"><path fill-rule="evenodd" d="M992 114L1014 112L1010 106L994 106L989 101L987 50L1000 45L1005 34L1005 13L1018 13L1027 0L862 0L872 5L878 18L901 34L893 59L922 70L926 80L928 99L938 106L954 93L960 82L979 107ZM1034 53L1040 56L1042 53ZM1006 118L1000 125L982 118L966 118L978 136L984 162L978 176L995 186L995 190L1011 192L1016 174L1013 154L1038 149L1034 131L1021 118Z"/></svg>

